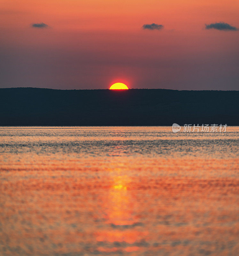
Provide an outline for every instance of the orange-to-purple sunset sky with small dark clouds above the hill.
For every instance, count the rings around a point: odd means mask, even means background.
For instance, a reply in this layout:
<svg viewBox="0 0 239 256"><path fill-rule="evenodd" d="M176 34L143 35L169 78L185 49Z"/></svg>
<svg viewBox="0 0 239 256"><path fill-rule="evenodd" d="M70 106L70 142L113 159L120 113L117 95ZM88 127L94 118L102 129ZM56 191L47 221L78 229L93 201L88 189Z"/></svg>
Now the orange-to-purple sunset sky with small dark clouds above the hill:
<svg viewBox="0 0 239 256"><path fill-rule="evenodd" d="M0 87L238 90L238 13L238 0L0 0Z"/></svg>

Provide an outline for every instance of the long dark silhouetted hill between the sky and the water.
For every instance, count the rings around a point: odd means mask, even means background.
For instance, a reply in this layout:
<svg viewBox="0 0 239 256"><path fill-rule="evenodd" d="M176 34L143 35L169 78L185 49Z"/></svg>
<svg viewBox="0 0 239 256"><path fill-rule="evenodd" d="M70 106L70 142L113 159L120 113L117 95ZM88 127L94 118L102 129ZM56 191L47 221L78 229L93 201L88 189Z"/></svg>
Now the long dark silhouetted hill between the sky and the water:
<svg viewBox="0 0 239 256"><path fill-rule="evenodd" d="M239 91L0 89L0 125L239 125Z"/></svg>

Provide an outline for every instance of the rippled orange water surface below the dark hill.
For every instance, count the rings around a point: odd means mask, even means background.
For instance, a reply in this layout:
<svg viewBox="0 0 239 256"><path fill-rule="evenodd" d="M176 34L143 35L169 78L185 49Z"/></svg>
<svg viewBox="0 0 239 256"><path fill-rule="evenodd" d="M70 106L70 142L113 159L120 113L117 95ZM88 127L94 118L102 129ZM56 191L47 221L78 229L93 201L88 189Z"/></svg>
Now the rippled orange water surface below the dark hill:
<svg viewBox="0 0 239 256"><path fill-rule="evenodd" d="M239 255L239 127L0 127L0 255Z"/></svg>

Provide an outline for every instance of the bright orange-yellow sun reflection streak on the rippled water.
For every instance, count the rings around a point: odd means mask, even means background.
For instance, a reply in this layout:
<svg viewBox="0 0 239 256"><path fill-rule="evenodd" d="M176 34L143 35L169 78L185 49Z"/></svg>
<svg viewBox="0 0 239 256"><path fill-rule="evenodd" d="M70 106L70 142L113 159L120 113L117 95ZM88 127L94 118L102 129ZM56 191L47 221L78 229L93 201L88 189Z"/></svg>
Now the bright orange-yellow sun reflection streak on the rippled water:
<svg viewBox="0 0 239 256"><path fill-rule="evenodd" d="M108 195L101 206L104 209L105 222L109 227L94 233L98 242L109 243L110 247L99 246L97 248L99 252L139 251L140 247L135 246L134 243L145 240L148 235L147 231L141 230L142 223L139 223L139 217L134 213L135 198L133 190L128 189L130 185L131 178L127 175L113 178ZM115 247L115 243L124 243L124 247Z"/></svg>

